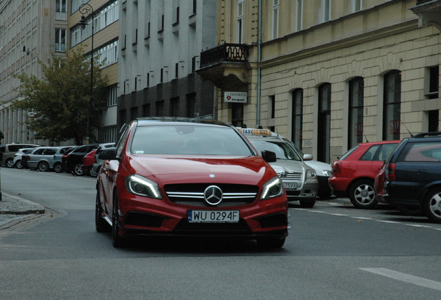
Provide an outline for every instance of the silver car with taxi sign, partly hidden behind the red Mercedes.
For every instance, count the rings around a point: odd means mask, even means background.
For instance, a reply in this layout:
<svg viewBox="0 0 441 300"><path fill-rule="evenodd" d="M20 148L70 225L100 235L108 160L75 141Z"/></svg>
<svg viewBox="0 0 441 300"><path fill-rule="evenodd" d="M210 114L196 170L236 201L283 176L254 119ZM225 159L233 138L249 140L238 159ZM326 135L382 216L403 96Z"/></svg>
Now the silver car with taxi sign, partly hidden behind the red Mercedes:
<svg viewBox="0 0 441 300"><path fill-rule="evenodd" d="M290 142L270 135L245 135L254 148L273 151L277 161L270 163L282 178L288 201L300 201L302 208L311 208L318 194L318 179L315 170L304 163Z"/></svg>

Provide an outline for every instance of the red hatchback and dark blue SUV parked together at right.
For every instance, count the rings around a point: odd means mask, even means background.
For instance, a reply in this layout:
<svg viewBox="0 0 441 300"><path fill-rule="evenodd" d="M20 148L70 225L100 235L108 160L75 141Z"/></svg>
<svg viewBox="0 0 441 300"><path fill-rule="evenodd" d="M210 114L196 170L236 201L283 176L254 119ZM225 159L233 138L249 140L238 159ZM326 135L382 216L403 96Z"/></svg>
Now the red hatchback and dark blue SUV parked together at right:
<svg viewBox="0 0 441 300"><path fill-rule="evenodd" d="M441 223L441 133L358 144L332 163L329 186L356 208L389 203Z"/></svg>

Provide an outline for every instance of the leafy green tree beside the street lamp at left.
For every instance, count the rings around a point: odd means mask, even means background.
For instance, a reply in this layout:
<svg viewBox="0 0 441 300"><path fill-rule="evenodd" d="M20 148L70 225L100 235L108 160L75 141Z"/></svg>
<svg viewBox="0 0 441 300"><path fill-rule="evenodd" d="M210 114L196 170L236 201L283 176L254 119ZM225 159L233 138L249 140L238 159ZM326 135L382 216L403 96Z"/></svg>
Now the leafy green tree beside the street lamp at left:
<svg viewBox="0 0 441 300"><path fill-rule="evenodd" d="M22 100L12 101L14 108L32 114L26 124L35 131L35 138L62 142L74 139L77 145L87 137L87 115L90 99L90 60L85 59L83 47L60 58L52 53L42 65L44 78L25 73L17 74L17 88ZM105 108L107 76L101 76L102 65L94 60L91 128L99 128L100 112ZM93 130L92 130L93 132ZM89 137L96 140L93 136Z"/></svg>

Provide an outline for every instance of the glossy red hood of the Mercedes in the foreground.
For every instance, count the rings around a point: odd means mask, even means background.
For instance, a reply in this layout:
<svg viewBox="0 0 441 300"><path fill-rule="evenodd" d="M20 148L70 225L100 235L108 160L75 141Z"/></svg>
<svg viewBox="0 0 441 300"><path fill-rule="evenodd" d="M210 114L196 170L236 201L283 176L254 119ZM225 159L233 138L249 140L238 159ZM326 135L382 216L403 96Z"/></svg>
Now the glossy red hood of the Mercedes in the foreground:
<svg viewBox="0 0 441 300"><path fill-rule="evenodd" d="M260 156L130 156L126 169L164 183L241 183L259 185L276 176Z"/></svg>

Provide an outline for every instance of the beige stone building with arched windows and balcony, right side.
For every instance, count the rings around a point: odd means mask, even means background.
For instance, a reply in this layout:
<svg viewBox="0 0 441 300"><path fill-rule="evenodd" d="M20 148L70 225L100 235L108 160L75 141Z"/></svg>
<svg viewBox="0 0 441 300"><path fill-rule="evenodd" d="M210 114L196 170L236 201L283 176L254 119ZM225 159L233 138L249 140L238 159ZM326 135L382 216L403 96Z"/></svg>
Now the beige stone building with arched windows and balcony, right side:
<svg viewBox="0 0 441 300"><path fill-rule="evenodd" d="M440 20L440 0L221 0L198 74L218 88L218 119L330 163L359 142L438 131Z"/></svg>

